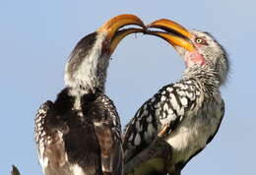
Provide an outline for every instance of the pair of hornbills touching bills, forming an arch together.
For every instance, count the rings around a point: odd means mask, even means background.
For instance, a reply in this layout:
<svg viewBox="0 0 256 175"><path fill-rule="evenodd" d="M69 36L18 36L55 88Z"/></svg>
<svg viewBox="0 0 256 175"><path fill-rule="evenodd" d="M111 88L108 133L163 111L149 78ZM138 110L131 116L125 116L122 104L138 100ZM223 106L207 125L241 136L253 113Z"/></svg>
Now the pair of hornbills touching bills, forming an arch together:
<svg viewBox="0 0 256 175"><path fill-rule="evenodd" d="M123 29L128 25L139 28ZM114 103L104 94L105 81L111 54L135 32L166 40L186 70L180 81L147 100L122 134ZM36 113L35 143L43 173L179 175L219 130L224 117L220 87L227 73L224 48L208 32L166 19L145 26L129 14L110 19L78 42L66 64L65 87Z"/></svg>

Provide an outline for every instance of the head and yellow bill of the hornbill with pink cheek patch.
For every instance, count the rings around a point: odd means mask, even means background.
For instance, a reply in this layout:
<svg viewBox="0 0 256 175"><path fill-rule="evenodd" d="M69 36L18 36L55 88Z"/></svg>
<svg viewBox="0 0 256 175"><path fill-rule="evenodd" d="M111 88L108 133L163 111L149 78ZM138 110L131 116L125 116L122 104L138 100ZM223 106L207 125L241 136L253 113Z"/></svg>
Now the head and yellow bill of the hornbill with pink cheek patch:
<svg viewBox="0 0 256 175"><path fill-rule="evenodd" d="M160 36L181 55L187 70L207 69L224 84L228 72L228 59L224 48L208 32L185 29L181 25L161 19L148 25L146 33ZM150 29L162 29L153 31Z"/></svg>

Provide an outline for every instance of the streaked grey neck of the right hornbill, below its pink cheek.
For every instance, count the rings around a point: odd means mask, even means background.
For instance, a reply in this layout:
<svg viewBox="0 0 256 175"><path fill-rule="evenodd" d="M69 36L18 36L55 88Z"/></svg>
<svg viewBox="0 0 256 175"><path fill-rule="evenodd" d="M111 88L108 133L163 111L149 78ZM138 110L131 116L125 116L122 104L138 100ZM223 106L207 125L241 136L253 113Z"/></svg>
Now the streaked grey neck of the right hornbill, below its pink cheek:
<svg viewBox="0 0 256 175"><path fill-rule="evenodd" d="M221 83L218 78L218 74L214 69L208 66L188 67L184 71L182 78L184 80L195 79L207 95L212 96L214 94L220 93Z"/></svg>

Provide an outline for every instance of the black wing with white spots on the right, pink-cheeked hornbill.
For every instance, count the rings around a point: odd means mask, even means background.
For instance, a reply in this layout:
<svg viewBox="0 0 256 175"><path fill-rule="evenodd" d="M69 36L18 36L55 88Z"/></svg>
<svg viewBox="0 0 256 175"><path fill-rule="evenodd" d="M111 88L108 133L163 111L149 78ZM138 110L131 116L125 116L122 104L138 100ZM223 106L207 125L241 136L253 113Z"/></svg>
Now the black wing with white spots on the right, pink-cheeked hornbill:
<svg viewBox="0 0 256 175"><path fill-rule="evenodd" d="M199 108L200 87L194 80L162 87L128 123L124 136L125 162L149 146L157 136L173 131L189 112Z"/></svg>

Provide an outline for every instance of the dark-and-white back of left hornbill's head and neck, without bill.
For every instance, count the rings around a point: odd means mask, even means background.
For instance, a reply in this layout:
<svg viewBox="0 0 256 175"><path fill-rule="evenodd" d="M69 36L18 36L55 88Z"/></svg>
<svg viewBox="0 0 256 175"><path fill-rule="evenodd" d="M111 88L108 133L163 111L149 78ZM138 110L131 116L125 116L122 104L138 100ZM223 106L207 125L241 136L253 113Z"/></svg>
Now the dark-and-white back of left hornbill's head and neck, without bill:
<svg viewBox="0 0 256 175"><path fill-rule="evenodd" d="M90 38L87 38L90 39ZM92 43L80 41L66 64L64 81L74 95L104 91L108 58L102 54L104 35L94 35Z"/></svg>

